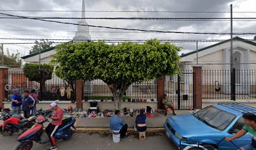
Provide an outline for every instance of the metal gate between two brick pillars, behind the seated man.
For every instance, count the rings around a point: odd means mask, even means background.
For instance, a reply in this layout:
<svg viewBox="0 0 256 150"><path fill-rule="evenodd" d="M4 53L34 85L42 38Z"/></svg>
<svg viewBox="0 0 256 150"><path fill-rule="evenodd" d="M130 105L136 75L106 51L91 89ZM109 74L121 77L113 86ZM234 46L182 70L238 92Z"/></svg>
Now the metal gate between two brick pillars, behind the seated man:
<svg viewBox="0 0 256 150"><path fill-rule="evenodd" d="M193 71L166 76L165 93L173 100L175 109L193 108Z"/></svg>

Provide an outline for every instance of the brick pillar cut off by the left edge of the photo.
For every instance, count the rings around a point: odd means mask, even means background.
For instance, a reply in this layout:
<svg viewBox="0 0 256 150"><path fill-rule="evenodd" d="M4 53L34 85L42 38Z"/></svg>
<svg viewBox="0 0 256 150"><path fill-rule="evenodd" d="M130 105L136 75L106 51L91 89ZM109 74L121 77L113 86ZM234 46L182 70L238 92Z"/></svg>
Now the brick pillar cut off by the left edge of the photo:
<svg viewBox="0 0 256 150"><path fill-rule="evenodd" d="M6 90L4 86L8 84L8 68L1 66L0 67L0 111L4 109L3 101L6 99Z"/></svg>

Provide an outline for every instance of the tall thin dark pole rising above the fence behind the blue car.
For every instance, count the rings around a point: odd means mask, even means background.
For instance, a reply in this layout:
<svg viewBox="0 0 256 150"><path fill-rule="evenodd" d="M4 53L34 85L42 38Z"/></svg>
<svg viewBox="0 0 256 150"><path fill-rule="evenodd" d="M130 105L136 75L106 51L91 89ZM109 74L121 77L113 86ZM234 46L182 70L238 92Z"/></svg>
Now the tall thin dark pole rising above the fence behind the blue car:
<svg viewBox="0 0 256 150"><path fill-rule="evenodd" d="M235 69L233 69L233 5L230 5L230 99L235 101Z"/></svg>

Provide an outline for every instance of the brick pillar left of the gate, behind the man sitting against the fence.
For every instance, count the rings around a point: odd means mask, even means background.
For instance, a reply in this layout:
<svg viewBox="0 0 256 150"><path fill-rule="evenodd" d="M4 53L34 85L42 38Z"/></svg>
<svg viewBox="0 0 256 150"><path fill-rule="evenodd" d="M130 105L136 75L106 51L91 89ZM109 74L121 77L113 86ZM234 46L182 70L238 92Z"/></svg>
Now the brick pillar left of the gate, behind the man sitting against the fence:
<svg viewBox="0 0 256 150"><path fill-rule="evenodd" d="M164 96L164 77L156 79L157 109L163 109L162 99Z"/></svg>

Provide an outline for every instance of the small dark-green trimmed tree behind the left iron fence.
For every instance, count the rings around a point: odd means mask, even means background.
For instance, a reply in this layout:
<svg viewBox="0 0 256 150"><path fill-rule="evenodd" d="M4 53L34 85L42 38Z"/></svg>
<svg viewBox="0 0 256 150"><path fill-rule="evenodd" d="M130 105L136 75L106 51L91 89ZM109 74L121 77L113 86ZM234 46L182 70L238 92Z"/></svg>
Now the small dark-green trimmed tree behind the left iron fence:
<svg viewBox="0 0 256 150"><path fill-rule="evenodd" d="M24 76L29 81L40 83L40 89L45 89L45 81L52 78L53 66L49 64L26 63L23 67Z"/></svg>

